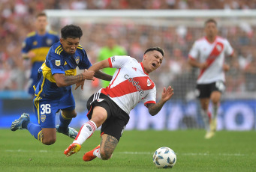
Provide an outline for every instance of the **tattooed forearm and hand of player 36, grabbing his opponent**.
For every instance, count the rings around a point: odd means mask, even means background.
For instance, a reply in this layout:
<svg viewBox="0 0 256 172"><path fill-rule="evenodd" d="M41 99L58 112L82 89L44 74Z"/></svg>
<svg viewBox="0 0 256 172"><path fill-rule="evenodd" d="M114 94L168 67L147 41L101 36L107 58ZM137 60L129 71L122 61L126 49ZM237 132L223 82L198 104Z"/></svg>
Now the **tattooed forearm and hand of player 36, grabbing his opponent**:
<svg viewBox="0 0 256 172"><path fill-rule="evenodd" d="M93 80L95 73L93 71L85 70L84 73L80 73L77 76L65 76L62 73L56 73L53 75L53 78L56 81L58 87L66 87L69 85L74 85L77 82L84 82L85 79Z"/></svg>

